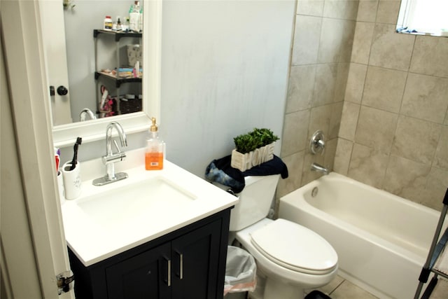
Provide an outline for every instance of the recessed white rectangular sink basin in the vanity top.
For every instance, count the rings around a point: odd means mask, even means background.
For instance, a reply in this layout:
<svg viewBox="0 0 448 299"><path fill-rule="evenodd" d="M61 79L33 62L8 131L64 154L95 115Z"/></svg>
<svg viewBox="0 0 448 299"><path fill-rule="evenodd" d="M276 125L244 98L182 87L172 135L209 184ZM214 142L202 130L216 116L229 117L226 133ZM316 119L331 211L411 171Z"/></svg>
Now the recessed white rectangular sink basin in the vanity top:
<svg viewBox="0 0 448 299"><path fill-rule="evenodd" d="M197 195L166 177L155 176L118 190L85 197L78 202L78 207L94 223L123 228L148 223L151 218L157 218L156 214L169 216L170 211L186 209L196 199Z"/></svg>

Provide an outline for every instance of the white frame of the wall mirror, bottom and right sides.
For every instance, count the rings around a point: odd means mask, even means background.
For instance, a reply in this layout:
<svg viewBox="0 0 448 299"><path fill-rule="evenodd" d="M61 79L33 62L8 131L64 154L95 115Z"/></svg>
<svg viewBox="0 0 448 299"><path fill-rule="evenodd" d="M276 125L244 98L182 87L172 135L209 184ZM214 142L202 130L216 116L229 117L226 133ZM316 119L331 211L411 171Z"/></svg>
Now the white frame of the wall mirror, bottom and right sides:
<svg viewBox="0 0 448 299"><path fill-rule="evenodd" d="M84 142L104 139L106 126L117 121L126 134L143 132L151 126L151 117L160 124L160 60L162 48L162 0L144 0L144 80L142 80L143 99L141 112L99 118L85 122L70 123L53 127L53 143L56 147L71 146L76 137L82 136Z"/></svg>

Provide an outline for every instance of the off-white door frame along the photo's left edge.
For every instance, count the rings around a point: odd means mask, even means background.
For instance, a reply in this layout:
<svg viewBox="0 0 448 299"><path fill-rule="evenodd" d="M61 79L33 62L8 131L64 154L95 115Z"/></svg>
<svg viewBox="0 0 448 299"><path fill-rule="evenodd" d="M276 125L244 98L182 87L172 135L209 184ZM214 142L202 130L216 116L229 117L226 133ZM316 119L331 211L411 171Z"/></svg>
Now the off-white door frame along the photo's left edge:
<svg viewBox="0 0 448 299"><path fill-rule="evenodd" d="M57 274L69 271L69 259L52 155L38 2L0 4L1 72L6 73L0 81L1 113L9 116L1 118L8 138L1 143L2 282L11 298L74 298L73 291L59 296L57 290ZM31 287L31 294L24 293Z"/></svg>

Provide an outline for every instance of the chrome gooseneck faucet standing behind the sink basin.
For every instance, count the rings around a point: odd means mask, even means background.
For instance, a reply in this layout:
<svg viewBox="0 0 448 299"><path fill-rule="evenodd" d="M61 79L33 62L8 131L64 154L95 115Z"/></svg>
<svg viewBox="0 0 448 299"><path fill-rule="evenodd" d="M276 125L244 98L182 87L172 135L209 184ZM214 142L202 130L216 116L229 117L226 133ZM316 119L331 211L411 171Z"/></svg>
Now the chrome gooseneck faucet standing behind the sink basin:
<svg viewBox="0 0 448 299"><path fill-rule="evenodd" d="M120 137L121 146L127 146L126 134L123 127L116 122L109 123L106 127L106 155L102 156L103 164L106 165L106 175L94 179L92 182L94 186L103 186L107 183L113 183L114 181L127 178L127 173L125 172L115 173L115 165L113 163L125 160L126 153L120 150L116 140L113 140L113 144L115 144L117 152L113 153L112 151L112 130L114 127L118 132L118 137Z"/></svg>

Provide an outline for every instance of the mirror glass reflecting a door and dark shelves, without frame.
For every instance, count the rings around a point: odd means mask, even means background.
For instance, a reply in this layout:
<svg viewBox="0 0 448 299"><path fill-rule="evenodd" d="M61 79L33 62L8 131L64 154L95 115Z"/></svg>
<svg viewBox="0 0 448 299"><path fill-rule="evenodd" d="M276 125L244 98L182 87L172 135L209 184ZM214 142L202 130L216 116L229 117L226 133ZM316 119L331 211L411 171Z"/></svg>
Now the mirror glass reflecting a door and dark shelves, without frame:
<svg viewBox="0 0 448 299"><path fill-rule="evenodd" d="M52 96L53 124L80 121L83 109L92 111L96 118L141 111L143 30L140 27L143 22L139 19L143 20L143 3L130 0L69 2L64 9L58 2L52 13L52 16L63 14L64 30L59 39L66 45L69 80L66 85L69 92L61 94L57 88L57 94ZM54 25L54 19L49 19ZM48 43L59 43L53 36ZM52 64L51 57L48 67L50 78L53 73L65 71L64 65ZM56 105L56 102L67 104ZM62 118L61 114L70 115L70 118Z"/></svg>

